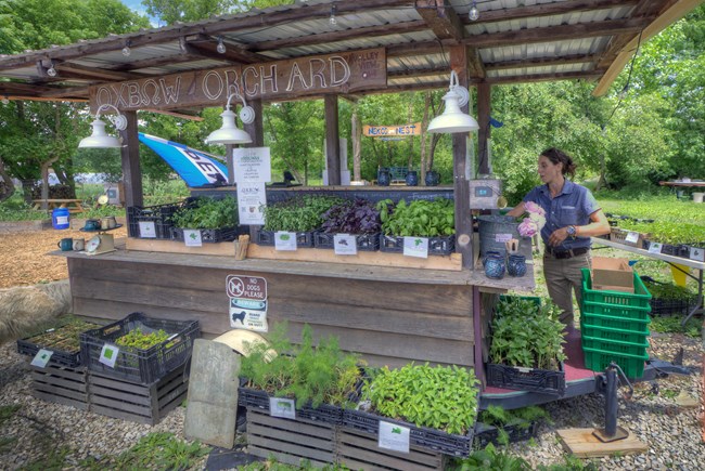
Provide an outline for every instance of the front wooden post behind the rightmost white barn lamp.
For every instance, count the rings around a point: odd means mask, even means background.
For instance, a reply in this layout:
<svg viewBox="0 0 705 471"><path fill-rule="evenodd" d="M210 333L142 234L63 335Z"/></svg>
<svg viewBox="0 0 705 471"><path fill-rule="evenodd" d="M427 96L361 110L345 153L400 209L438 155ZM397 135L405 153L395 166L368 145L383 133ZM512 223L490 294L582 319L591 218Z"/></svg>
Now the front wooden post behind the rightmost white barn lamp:
<svg viewBox="0 0 705 471"><path fill-rule="evenodd" d="M450 50L450 67L458 74L461 87L467 87L467 56L462 45ZM467 105L461 108L467 113ZM473 223L470 215L470 184L465 178L465 155L467 154L467 134L454 133L453 140L453 192L456 199L456 251L463 256L463 269L472 270Z"/></svg>

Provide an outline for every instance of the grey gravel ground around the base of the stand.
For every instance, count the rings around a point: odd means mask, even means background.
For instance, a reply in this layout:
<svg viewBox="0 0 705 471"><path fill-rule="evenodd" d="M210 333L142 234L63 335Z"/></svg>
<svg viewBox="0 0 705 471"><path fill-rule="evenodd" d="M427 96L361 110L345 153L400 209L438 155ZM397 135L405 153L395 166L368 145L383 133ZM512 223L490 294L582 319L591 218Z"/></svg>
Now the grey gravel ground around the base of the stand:
<svg viewBox="0 0 705 471"><path fill-rule="evenodd" d="M645 442L649 452L595 459L593 462L599 469L705 469L705 446L698 421L702 405L680 406L677 400L678 395L684 394L698 400L700 404L703 357L701 341L680 335L655 335L652 344L652 355L662 359L672 358L679 348L683 346L683 363L694 374L659 380L658 395L653 393L651 384L639 383L631 401L624 397L623 393L627 389L621 388L618 423ZM26 365L27 359L16 353L14 342L0 348L0 406L22 406L11 420L0 426L0 443L3 437L16 439L9 445L0 446L0 469L20 469L47 456L52 447L61 445L67 445L74 450L68 456L73 468L89 456L117 455L150 432L164 431L183 435L182 407L171 411L159 424L150 427L37 400L29 393L30 380ZM511 453L535 467L564 462L564 450L555 430L604 426L603 398L598 395L554 402L546 407L554 423L541 426L535 444L525 442L510 446ZM205 459L195 469L204 469L204 466Z"/></svg>

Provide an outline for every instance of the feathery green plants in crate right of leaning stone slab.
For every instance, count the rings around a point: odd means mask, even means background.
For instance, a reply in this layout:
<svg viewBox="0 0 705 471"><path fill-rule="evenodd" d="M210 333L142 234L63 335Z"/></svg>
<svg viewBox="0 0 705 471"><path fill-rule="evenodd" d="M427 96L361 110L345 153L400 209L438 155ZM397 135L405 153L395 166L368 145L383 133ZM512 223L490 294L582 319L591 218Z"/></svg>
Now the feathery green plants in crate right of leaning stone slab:
<svg viewBox="0 0 705 471"><path fill-rule="evenodd" d="M323 403L351 406L360 380L359 356L343 352L335 337L320 339L315 348L308 324L302 343L292 345L284 337L285 329L284 323L278 324L269 344L247 345L240 371L248 387L279 397L295 397L299 408L309 402L312 407Z"/></svg>

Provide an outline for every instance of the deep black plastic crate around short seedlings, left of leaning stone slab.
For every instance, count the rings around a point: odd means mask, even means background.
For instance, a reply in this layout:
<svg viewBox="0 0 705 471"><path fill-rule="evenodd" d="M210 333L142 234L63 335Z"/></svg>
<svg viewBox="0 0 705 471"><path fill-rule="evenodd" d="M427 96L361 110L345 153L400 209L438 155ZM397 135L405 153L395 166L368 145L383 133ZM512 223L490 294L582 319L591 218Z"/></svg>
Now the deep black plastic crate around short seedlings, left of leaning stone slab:
<svg viewBox="0 0 705 471"><path fill-rule="evenodd" d="M118 338L137 328L143 332L163 329L170 337L148 350L118 346L114 368L100 363L104 344L115 344ZM105 327L81 333L81 356L91 371L137 384L151 384L182 366L191 357L193 341L200 336L197 320L155 319L137 312Z"/></svg>

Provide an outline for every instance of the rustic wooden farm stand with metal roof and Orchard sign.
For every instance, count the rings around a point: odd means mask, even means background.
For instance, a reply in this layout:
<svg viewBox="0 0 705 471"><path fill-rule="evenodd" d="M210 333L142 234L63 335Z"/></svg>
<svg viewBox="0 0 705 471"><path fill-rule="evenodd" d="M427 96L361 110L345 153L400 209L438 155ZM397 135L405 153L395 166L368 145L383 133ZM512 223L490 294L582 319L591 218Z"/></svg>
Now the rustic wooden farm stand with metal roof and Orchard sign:
<svg viewBox="0 0 705 471"><path fill-rule="evenodd" d="M478 265L467 175L475 170L489 173L492 86L597 79L593 94L602 95L639 41L646 41L702 1L528 5L510 0L498 10L488 10L491 2L484 2L477 5L477 22L467 18L466 1L296 2L2 56L0 77L12 80L0 81L0 95L89 102L92 112L103 104L116 106L127 118L120 153L128 207L144 206L139 110L188 118L194 108L223 106L229 84L235 81L255 109L255 121L245 125L245 130L253 138L249 145L257 147L264 145L264 102L322 97L332 186L300 191L347 192L348 196L367 192L374 194L373 200L385 195L413 199L450 194L456 209L456 253L420 261L372 252L339 263L342 258L326 251L286 257L251 245L248 258L235 261L232 244L196 250L178 243L128 239L116 244L117 251L99 257L56 253L67 259L73 311L97 319L119 319L134 311L177 320L198 319L204 336L213 338L230 329L226 277L257 276L267 279L269 319L287 320L294 341L308 323L319 336L337 336L343 349L361 353L372 365L457 364L474 367L482 378L485 331L496 293L534 287L531 270L523 278L491 280ZM341 26L329 23L332 14ZM219 41L226 53L216 52ZM126 44L132 56L120 54ZM52 74L48 74L50 67ZM355 101L369 93L447 90L450 69L457 73L459 84L477 91L471 101L477 105L471 115L479 123L477 168L466 168L473 141L466 134L452 134L451 187L354 191L335 186L341 183L338 96ZM228 156L232 147L226 146ZM234 169L228 160L230 186L194 191L194 195L234 191ZM268 198L273 195L275 191L268 189ZM602 376L585 369L578 343L568 349L562 397L594 392ZM648 366L644 379L654 375ZM555 395L485 388L480 407L495 403L514 408L554 400Z"/></svg>

